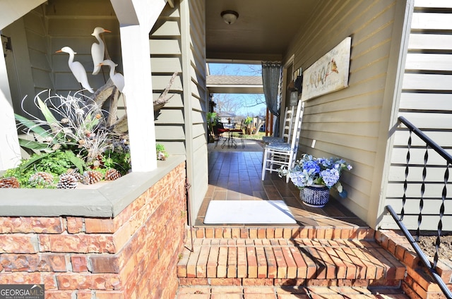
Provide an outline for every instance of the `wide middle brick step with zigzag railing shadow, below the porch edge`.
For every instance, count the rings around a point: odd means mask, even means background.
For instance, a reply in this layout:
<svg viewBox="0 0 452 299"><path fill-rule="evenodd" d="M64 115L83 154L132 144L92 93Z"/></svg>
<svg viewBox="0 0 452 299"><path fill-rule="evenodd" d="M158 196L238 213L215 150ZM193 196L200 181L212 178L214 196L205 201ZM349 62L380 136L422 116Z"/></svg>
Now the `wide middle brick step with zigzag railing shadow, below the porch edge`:
<svg viewBox="0 0 452 299"><path fill-rule="evenodd" d="M177 275L181 286L399 286L405 266L374 240L196 238Z"/></svg>

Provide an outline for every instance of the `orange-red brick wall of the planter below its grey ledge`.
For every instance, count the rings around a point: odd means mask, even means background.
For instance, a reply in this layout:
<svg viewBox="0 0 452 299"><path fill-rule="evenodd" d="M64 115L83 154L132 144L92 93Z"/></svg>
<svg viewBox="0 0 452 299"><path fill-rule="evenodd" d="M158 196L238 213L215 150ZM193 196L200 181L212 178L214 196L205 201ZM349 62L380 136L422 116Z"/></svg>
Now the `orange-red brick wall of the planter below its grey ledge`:
<svg viewBox="0 0 452 299"><path fill-rule="evenodd" d="M46 298L174 298L186 224L185 164L114 218L0 217L0 283Z"/></svg>

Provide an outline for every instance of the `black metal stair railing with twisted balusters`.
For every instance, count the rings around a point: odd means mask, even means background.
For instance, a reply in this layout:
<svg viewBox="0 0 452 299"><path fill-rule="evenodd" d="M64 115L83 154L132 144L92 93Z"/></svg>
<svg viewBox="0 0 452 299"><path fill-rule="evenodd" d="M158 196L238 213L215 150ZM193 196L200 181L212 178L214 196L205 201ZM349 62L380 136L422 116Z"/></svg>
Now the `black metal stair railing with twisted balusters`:
<svg viewBox="0 0 452 299"><path fill-rule="evenodd" d="M449 166L452 164L452 156L451 154L448 154L442 147L437 145L433 140L427 137L422 130L416 128L413 126L412 123L410 123L406 118L403 116L399 116L398 121L400 123L403 123L408 130L410 130L410 135L408 138L408 151L406 155L406 164L405 164L405 181L403 182L403 197L402 197L402 209L400 211L400 214L397 214L393 207L391 205L387 205L386 209L388 210L389 214L393 217L393 219L396 221L398 227L403 232L406 238L408 238L408 241L412 245L412 248L415 250L417 256L420 258L422 263L427 267L432 274L434 280L436 283L438 283L439 287L441 288L441 291L443 291L444 295L446 295L447 298L452 298L451 291L447 288L446 283L441 279L441 276L436 271L436 264L439 259L439 246L441 244L441 234L443 230L443 216L444 216L444 202L446 201L446 195L447 195L447 183L449 178ZM406 191L408 188L408 173L410 169L410 149L412 147L412 134L417 135L418 138L423 140L425 142L425 152L424 152L424 164L422 169L422 182L421 182L421 190L420 190L420 198L419 198L419 214L417 214L417 231L416 231L416 238L412 236L410 231L406 228L406 226L403 224L403 216L405 216L405 203L407 201L407 195ZM434 152L439 154L441 157L444 158L445 163L445 171L444 171L444 186L441 194L441 207L439 208L439 221L438 221L438 234L436 236L436 242L435 242L435 254L433 257L433 262L429 262L427 256L422 252L422 249L417 244L417 240L420 237L420 226L422 223L422 209L424 207L424 200L427 200L424 198L424 192L425 192L425 185L426 185L426 176L427 176L427 162L429 159L429 153L428 150L432 149Z"/></svg>

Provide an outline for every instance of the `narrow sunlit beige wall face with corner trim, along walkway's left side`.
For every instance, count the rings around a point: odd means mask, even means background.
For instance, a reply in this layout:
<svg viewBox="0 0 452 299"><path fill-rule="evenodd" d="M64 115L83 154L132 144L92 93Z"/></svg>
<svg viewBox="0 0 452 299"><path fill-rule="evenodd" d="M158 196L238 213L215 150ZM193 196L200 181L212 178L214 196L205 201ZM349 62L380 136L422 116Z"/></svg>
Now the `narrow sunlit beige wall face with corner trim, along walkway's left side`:
<svg viewBox="0 0 452 299"><path fill-rule="evenodd" d="M182 1L182 11L186 18L182 28L184 37L184 97L187 132L187 180L192 185L191 220L194 221L208 188L207 127L206 113L208 94L206 90L206 18L205 1Z"/></svg>

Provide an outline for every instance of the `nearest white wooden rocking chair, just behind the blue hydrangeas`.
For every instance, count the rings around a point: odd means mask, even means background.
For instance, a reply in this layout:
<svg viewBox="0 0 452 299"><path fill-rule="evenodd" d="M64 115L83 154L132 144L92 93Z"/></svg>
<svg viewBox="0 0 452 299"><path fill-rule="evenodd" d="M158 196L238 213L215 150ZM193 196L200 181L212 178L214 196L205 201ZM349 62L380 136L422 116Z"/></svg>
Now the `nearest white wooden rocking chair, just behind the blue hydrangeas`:
<svg viewBox="0 0 452 299"><path fill-rule="evenodd" d="M273 171L278 171L282 166L287 166L289 169L295 166L299 134L302 131L303 112L304 102L299 100L290 142L270 142L265 146L262 162L262 181L266 178L266 171L272 173ZM289 176L286 176L286 183L288 182Z"/></svg>

